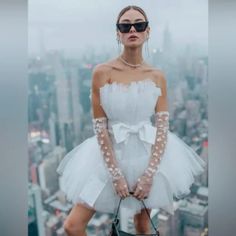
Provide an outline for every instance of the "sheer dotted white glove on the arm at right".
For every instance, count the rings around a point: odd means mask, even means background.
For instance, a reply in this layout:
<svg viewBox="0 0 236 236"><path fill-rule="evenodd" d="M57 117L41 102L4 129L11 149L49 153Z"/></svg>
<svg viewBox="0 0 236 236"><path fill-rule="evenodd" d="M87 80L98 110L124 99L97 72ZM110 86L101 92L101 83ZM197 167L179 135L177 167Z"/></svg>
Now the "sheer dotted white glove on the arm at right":
<svg viewBox="0 0 236 236"><path fill-rule="evenodd" d="M156 140L155 144L152 146L148 167L135 185L134 197L137 199L148 197L152 187L153 176L158 170L161 158L164 154L169 130L168 111L159 111L155 113L155 126L157 127Z"/></svg>

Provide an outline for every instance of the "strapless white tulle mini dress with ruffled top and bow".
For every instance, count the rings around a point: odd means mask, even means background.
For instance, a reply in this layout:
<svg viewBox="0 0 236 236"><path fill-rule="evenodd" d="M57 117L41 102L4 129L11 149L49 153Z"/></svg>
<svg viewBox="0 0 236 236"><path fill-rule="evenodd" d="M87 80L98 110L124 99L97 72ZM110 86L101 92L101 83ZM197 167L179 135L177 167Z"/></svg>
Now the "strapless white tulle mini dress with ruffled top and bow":
<svg viewBox="0 0 236 236"><path fill-rule="evenodd" d="M130 84L113 82L100 88L101 106L108 117L108 129L119 167L129 189L136 183L148 165L151 146L149 128L151 117L161 89L151 79ZM113 125L120 124L120 129ZM122 129L122 126L126 127ZM148 208L162 208L174 214L173 196L190 193L194 177L203 173L206 163L178 136L168 131L168 139L160 167L153 180ZM73 204L83 203L99 212L114 213L119 197L104 164L94 135L76 146L60 162L61 188ZM142 208L140 201L128 197L122 207L135 213Z"/></svg>

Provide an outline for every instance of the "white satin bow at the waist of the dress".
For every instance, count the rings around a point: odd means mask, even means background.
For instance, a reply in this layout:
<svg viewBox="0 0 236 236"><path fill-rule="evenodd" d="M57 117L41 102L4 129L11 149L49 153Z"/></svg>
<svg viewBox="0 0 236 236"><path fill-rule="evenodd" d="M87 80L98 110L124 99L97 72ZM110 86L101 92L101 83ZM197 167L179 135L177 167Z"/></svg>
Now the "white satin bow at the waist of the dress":
<svg viewBox="0 0 236 236"><path fill-rule="evenodd" d="M136 125L128 125L125 123L117 123L111 125L116 143L127 143L131 133L138 134L140 140L154 144L157 128L152 126L149 121L142 121Z"/></svg>

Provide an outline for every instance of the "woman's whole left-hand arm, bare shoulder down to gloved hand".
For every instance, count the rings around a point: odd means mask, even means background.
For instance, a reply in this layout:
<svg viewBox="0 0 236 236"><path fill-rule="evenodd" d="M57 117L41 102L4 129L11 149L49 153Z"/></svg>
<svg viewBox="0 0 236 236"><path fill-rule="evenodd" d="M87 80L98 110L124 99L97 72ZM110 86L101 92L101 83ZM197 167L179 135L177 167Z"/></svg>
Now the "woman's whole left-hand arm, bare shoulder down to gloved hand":
<svg viewBox="0 0 236 236"><path fill-rule="evenodd" d="M120 197L127 197L129 196L128 186L116 161L108 132L108 119L100 104L100 87L107 81L106 70L106 66L98 65L95 67L92 75L93 129L115 190Z"/></svg>

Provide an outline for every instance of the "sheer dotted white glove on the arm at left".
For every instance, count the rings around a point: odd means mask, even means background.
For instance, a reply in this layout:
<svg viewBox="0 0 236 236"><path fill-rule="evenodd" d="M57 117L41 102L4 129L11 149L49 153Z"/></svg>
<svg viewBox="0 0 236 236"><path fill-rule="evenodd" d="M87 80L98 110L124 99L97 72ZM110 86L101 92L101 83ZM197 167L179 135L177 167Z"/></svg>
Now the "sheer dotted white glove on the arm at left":
<svg viewBox="0 0 236 236"><path fill-rule="evenodd" d="M112 142L107 128L107 118L93 118L92 121L93 130L97 136L98 144L100 146L105 165L112 178L116 193L120 197L125 198L129 196L128 185L115 159L115 154L112 149Z"/></svg>

